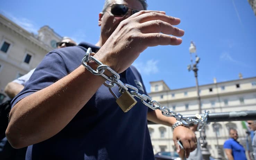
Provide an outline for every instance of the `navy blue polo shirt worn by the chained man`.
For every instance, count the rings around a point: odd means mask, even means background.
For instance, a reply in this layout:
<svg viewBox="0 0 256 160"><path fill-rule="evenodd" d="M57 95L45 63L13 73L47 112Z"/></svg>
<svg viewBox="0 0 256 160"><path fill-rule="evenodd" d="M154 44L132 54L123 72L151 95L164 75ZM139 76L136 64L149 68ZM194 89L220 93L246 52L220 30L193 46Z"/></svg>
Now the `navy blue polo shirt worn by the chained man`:
<svg viewBox="0 0 256 160"><path fill-rule="evenodd" d="M99 50L99 47L92 44L81 43L79 46L60 48L46 54L25 88L13 99L12 106L80 66L86 53L81 47L91 47L93 52ZM142 78L133 66L120 74L120 80L137 87L140 94L146 94ZM120 96L117 87L112 90ZM72 96L78 95L70 95L70 99ZM147 128L148 107L139 99L137 101L132 109L124 113L109 89L102 85L58 134L28 146L26 160L153 160Z"/></svg>

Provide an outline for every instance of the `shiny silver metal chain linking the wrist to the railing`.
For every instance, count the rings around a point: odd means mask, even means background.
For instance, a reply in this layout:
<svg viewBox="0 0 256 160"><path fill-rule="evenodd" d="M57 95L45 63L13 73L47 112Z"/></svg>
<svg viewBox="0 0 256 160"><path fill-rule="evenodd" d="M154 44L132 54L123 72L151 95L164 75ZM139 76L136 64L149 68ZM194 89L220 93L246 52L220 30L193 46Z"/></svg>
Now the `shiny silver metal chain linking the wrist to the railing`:
<svg viewBox="0 0 256 160"><path fill-rule="evenodd" d="M177 121L181 121L185 126L189 126L189 124L198 124L198 131L201 132L202 128L205 127L206 122L207 122L207 117L208 117L208 111L204 112L204 116L201 117L197 117L196 118L191 118L191 117L183 117L181 114L179 113L175 113L173 111L171 111L169 108L167 107L162 107L162 105L155 101L152 100L149 96L145 95L145 94L140 94L138 92L138 88L129 85L129 84L124 84L120 79L120 75L114 71L113 69L111 69L108 65L104 65L102 64L99 60L95 59L92 55L94 55L95 53L92 52L91 48L87 49L87 52L82 60L82 64L83 66L90 71L92 74L94 75L101 75L102 77L104 77L106 80L110 81L110 83L106 83L104 82L104 85L108 88L113 88L116 85L119 87L119 92L123 92L123 91L127 91L128 88L131 89L130 94L133 97L137 97L139 98L142 103L153 109L159 109L162 111L162 114L166 117L174 117L177 119ZM87 63L92 60L94 62L96 62L97 64L99 64L99 66L97 67L96 71L94 69L92 69L89 65L87 65ZM104 74L105 70L108 70L112 75L109 77L108 75Z"/></svg>

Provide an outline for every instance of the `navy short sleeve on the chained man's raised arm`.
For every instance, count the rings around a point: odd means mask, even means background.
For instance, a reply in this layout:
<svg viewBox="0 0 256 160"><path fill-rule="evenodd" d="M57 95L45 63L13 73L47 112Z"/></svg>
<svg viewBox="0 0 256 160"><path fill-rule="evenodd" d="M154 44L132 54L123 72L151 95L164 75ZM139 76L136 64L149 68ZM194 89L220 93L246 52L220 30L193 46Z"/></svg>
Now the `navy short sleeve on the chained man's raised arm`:
<svg viewBox="0 0 256 160"><path fill-rule="evenodd" d="M21 99L50 86L66 75L66 65L60 54L56 52L46 54L25 84L24 89L12 99L11 106L13 107Z"/></svg>

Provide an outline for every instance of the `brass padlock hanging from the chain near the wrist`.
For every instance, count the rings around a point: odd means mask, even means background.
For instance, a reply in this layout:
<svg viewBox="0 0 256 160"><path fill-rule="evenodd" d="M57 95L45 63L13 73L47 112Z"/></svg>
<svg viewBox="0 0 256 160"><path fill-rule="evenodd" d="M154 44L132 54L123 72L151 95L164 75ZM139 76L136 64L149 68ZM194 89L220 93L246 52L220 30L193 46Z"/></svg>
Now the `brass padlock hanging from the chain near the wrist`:
<svg viewBox="0 0 256 160"><path fill-rule="evenodd" d="M118 98L116 94L113 93L111 88L109 88L111 94L116 98L116 103L123 110L123 112L128 112L137 103L137 100L130 94L129 91L124 91Z"/></svg>

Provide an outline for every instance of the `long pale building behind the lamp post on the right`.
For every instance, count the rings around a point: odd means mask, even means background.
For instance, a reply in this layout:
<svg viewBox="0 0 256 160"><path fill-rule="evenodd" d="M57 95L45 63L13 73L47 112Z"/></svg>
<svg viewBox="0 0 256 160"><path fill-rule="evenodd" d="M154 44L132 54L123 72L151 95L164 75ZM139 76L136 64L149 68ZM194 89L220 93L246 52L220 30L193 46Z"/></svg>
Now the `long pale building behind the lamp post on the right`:
<svg viewBox="0 0 256 160"><path fill-rule="evenodd" d="M159 101L162 106L168 107L176 113L190 115L198 113L196 87L171 90L163 80L150 82L153 100ZM256 77L216 82L199 86L202 111L210 113L256 110ZM217 157L216 146L223 148L224 141L229 138L228 128L236 128L239 141L245 146L245 129L240 121L218 122L216 129L213 123L206 127L206 140L211 156ZM160 151L175 151L172 141L172 129L164 125L148 125L154 153ZM196 133L199 137L199 133ZM224 156L223 150L222 155Z"/></svg>

